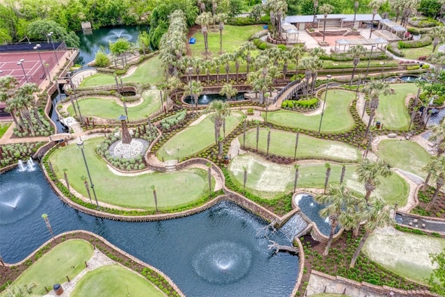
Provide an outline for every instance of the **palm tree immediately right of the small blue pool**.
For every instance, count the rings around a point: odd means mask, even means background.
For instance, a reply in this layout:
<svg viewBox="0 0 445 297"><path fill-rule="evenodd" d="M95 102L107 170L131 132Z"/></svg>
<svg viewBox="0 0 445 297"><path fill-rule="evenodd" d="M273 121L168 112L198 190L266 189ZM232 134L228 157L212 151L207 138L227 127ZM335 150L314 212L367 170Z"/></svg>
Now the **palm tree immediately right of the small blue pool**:
<svg viewBox="0 0 445 297"><path fill-rule="evenodd" d="M350 214L356 211L358 200L345 186L331 184L327 188L326 193L316 195L314 201L325 206L325 208L321 209L320 216L322 218L327 217L330 220L331 230L325 251L323 252L323 256L327 256L337 226L339 223L343 225L343 222L348 223L351 220Z"/></svg>

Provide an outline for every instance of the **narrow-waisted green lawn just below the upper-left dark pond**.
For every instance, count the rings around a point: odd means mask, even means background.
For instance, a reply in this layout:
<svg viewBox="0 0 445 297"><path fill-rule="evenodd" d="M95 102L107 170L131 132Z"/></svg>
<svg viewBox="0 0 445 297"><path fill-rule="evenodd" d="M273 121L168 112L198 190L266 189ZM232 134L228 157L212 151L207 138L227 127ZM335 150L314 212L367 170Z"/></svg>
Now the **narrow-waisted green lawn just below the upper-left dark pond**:
<svg viewBox="0 0 445 297"><path fill-rule="evenodd" d="M122 81L156 84L162 80L162 77L163 67L161 65L161 60L159 59L159 56L154 56L153 58L149 58L149 60L138 65L136 72L131 74L129 77L123 77ZM113 85L115 83L113 74L98 73L84 79L81 83L81 87Z"/></svg>

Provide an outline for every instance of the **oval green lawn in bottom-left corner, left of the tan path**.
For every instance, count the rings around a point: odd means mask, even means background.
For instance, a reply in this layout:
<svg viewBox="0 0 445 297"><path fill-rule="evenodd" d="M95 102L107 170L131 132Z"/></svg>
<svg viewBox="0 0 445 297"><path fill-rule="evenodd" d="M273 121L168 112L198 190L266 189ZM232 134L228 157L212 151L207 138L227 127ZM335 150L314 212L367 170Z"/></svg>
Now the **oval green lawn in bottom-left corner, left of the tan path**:
<svg viewBox="0 0 445 297"><path fill-rule="evenodd" d="M66 275L74 278L85 268L84 262L92 256L92 245L81 239L72 239L58 244L43 255L35 264L26 269L13 285L35 282L33 294L46 294L44 287L66 282Z"/></svg>

